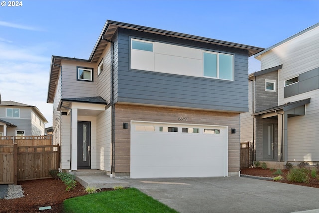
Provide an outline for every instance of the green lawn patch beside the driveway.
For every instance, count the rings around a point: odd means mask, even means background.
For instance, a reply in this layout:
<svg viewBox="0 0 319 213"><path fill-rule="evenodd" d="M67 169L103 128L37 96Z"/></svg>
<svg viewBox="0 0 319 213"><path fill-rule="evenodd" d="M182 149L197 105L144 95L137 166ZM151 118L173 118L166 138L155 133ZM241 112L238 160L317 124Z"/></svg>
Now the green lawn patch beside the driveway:
<svg viewBox="0 0 319 213"><path fill-rule="evenodd" d="M135 188L88 194L64 201L65 213L178 213Z"/></svg>

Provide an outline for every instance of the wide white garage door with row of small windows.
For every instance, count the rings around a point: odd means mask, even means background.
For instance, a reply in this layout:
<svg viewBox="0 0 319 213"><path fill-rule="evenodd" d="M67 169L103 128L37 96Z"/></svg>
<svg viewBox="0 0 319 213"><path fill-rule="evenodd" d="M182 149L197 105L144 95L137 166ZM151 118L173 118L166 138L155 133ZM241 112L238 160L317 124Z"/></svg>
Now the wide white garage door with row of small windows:
<svg viewBox="0 0 319 213"><path fill-rule="evenodd" d="M228 176L228 127L131 122L131 178Z"/></svg>

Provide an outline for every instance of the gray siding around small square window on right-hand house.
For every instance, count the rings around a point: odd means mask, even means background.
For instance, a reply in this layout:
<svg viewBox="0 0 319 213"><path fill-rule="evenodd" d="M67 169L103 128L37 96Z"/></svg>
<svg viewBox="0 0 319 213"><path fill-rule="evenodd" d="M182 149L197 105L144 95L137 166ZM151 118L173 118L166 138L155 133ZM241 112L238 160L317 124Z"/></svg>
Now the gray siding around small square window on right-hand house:
<svg viewBox="0 0 319 213"><path fill-rule="evenodd" d="M276 81L276 92L265 91L265 80ZM278 105L278 71L273 71L256 77L256 112Z"/></svg>

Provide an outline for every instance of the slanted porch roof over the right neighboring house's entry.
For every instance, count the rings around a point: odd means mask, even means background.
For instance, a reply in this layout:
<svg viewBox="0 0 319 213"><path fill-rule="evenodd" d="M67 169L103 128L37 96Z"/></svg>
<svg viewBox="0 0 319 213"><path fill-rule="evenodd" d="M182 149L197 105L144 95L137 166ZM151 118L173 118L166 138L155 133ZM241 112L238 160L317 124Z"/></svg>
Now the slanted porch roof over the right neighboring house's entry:
<svg viewBox="0 0 319 213"><path fill-rule="evenodd" d="M269 118L278 114L287 114L288 117L305 115L305 105L310 103L310 98L285 103L280 106L272 107L260 112L255 112L253 116L260 116L261 118Z"/></svg>

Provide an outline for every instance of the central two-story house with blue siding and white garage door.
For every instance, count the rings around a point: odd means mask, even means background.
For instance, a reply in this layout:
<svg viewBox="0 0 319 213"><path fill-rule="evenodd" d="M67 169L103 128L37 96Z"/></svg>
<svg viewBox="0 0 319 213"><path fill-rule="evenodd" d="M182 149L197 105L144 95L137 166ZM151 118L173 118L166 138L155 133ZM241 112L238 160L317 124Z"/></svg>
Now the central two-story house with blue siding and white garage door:
<svg viewBox="0 0 319 213"><path fill-rule="evenodd" d="M52 56L47 102L61 168L238 175L248 57L262 50L107 21L88 60Z"/></svg>

